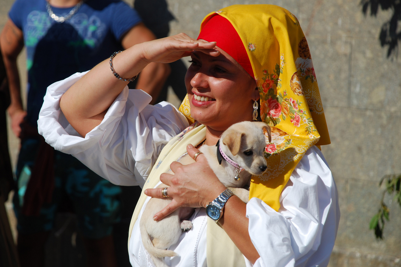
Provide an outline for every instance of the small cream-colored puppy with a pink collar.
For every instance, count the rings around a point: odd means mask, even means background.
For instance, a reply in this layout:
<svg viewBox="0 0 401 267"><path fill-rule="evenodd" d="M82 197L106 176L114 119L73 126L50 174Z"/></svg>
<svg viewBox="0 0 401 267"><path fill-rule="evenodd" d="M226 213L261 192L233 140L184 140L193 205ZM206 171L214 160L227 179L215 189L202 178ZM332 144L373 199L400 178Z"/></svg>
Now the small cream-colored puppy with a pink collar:
<svg viewBox="0 0 401 267"><path fill-rule="evenodd" d="M223 153L218 153L218 146L205 145L199 148L221 183L245 203L249 200L247 189L249 189L251 176L261 175L267 168L264 157L265 132L270 142L270 126L264 122L238 122L221 135L219 145ZM226 161L222 154L227 155L229 161L231 159L241 166L241 171L239 172L238 168ZM194 163L188 155L181 157L178 161L183 165ZM158 186L158 188L164 187L168 186L164 184ZM187 220L194 211L191 207L181 207L160 221L153 220L154 214L171 201L170 197L150 199L140 221L142 243L157 267L167 266L164 257L173 257L177 254L166 249L177 243L182 231L192 229L192 222Z"/></svg>

